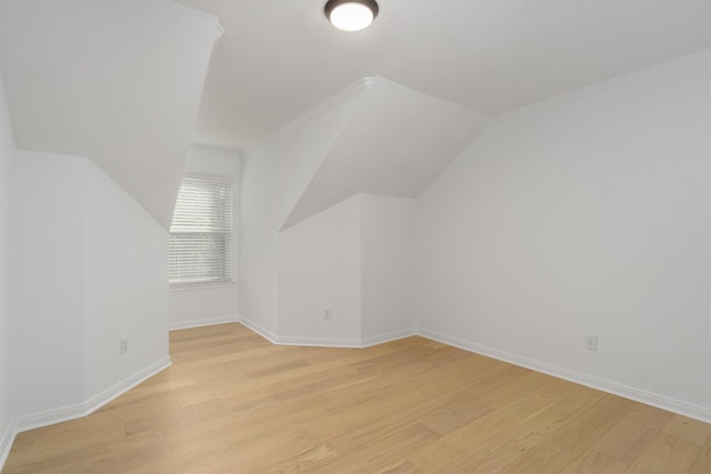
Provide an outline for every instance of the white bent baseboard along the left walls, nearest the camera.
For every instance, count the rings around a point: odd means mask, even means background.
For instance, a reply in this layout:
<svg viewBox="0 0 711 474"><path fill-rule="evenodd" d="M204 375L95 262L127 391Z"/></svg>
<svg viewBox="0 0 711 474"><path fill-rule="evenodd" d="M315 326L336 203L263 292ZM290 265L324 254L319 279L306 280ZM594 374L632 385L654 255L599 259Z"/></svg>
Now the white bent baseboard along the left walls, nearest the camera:
<svg viewBox="0 0 711 474"><path fill-rule="evenodd" d="M14 437L19 433L87 416L158 372L169 367L170 364L170 356L166 356L83 403L47 410L11 420L2 438L0 438L0 470L2 470L8 454L10 454Z"/></svg>

